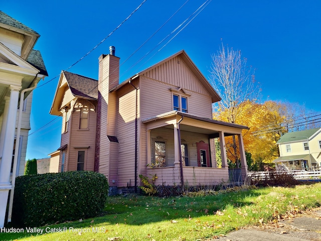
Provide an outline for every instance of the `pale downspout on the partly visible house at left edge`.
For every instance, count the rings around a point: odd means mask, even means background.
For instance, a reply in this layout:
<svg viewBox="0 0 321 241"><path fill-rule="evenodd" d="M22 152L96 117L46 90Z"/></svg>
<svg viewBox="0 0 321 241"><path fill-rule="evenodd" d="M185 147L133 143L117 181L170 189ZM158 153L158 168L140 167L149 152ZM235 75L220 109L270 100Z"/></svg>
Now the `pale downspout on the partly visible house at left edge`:
<svg viewBox="0 0 321 241"><path fill-rule="evenodd" d="M39 72L36 74L36 76L32 82L34 82L37 79L38 74L39 74ZM15 146L14 167L13 167L13 171L12 171L12 181L11 181L12 189L10 192L10 199L9 199L8 222L11 222L12 207L13 207L13 202L14 202L16 172L17 172L17 162L18 162L18 154L19 154L21 122L22 122L22 111L23 111L23 106L24 106L24 95L25 95L25 92L34 90L36 87L37 87L37 82L34 83L34 87L24 89L21 91L21 94L20 94L17 138L16 138L16 146Z"/></svg>

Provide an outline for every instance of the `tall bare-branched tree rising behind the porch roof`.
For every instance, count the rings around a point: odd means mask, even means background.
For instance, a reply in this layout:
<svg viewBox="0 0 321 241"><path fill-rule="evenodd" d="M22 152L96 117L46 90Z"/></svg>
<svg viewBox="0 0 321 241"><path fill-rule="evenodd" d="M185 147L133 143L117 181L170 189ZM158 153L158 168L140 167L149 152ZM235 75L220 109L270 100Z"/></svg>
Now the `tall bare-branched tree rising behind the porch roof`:
<svg viewBox="0 0 321 241"><path fill-rule="evenodd" d="M255 81L255 69L247 66L247 59L241 56L241 51L233 48L222 48L212 55L210 70L210 83L222 97L222 100L215 104L214 116L224 112L229 123L238 123L242 113L240 105L246 101L255 101L258 98L260 89ZM234 156L237 156L236 138L233 136ZM239 160L236 160L239 168Z"/></svg>

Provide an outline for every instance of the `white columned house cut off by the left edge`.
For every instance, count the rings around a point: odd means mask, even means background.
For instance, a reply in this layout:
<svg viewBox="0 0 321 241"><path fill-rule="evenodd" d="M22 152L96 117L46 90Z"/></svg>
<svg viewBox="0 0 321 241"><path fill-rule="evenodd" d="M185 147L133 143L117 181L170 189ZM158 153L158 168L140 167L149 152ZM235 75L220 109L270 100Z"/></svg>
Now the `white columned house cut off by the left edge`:
<svg viewBox="0 0 321 241"><path fill-rule="evenodd" d="M32 90L48 76L40 52L33 49L39 37L0 11L0 227L9 190L15 177L24 173Z"/></svg>

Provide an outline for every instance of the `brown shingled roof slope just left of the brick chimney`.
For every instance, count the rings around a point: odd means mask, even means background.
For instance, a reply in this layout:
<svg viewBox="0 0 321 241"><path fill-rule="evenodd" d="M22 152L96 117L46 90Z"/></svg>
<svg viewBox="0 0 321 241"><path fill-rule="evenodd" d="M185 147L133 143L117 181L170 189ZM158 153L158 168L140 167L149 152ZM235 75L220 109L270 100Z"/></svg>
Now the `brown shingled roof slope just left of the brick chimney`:
<svg viewBox="0 0 321 241"><path fill-rule="evenodd" d="M96 79L67 71L64 74L73 95L87 99L98 99L98 81Z"/></svg>

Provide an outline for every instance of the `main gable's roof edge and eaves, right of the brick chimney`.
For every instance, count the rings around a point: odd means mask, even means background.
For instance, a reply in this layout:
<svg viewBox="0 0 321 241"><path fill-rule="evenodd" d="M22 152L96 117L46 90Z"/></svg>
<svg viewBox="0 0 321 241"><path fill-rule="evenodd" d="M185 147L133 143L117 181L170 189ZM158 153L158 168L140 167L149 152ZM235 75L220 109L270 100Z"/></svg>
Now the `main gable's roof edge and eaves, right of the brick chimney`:
<svg viewBox="0 0 321 241"><path fill-rule="evenodd" d="M220 95L216 92L216 90L213 88L213 86L209 83L209 81L204 77L204 75L201 73L201 71L196 67L194 62L191 60L191 58L187 55L187 53L184 50L181 50L177 52L176 54L162 60L161 62L158 62L152 66L150 66L147 69L144 69L140 71L139 73L135 74L134 76L130 77L129 79L125 80L121 84L117 85L115 88L111 89L110 92L115 91L119 88L121 88L123 85L129 83L129 81L133 78L136 78L137 76L143 75L145 72L149 71L150 69L155 68L158 65L162 65L163 63L169 61L170 59L180 56L180 58L183 59L183 61L186 63L186 65L189 67L189 69L192 71L192 73L197 77L197 79L201 82L201 84L204 86L204 88L208 91L208 93L212 97L212 103L220 101L221 97Z"/></svg>

